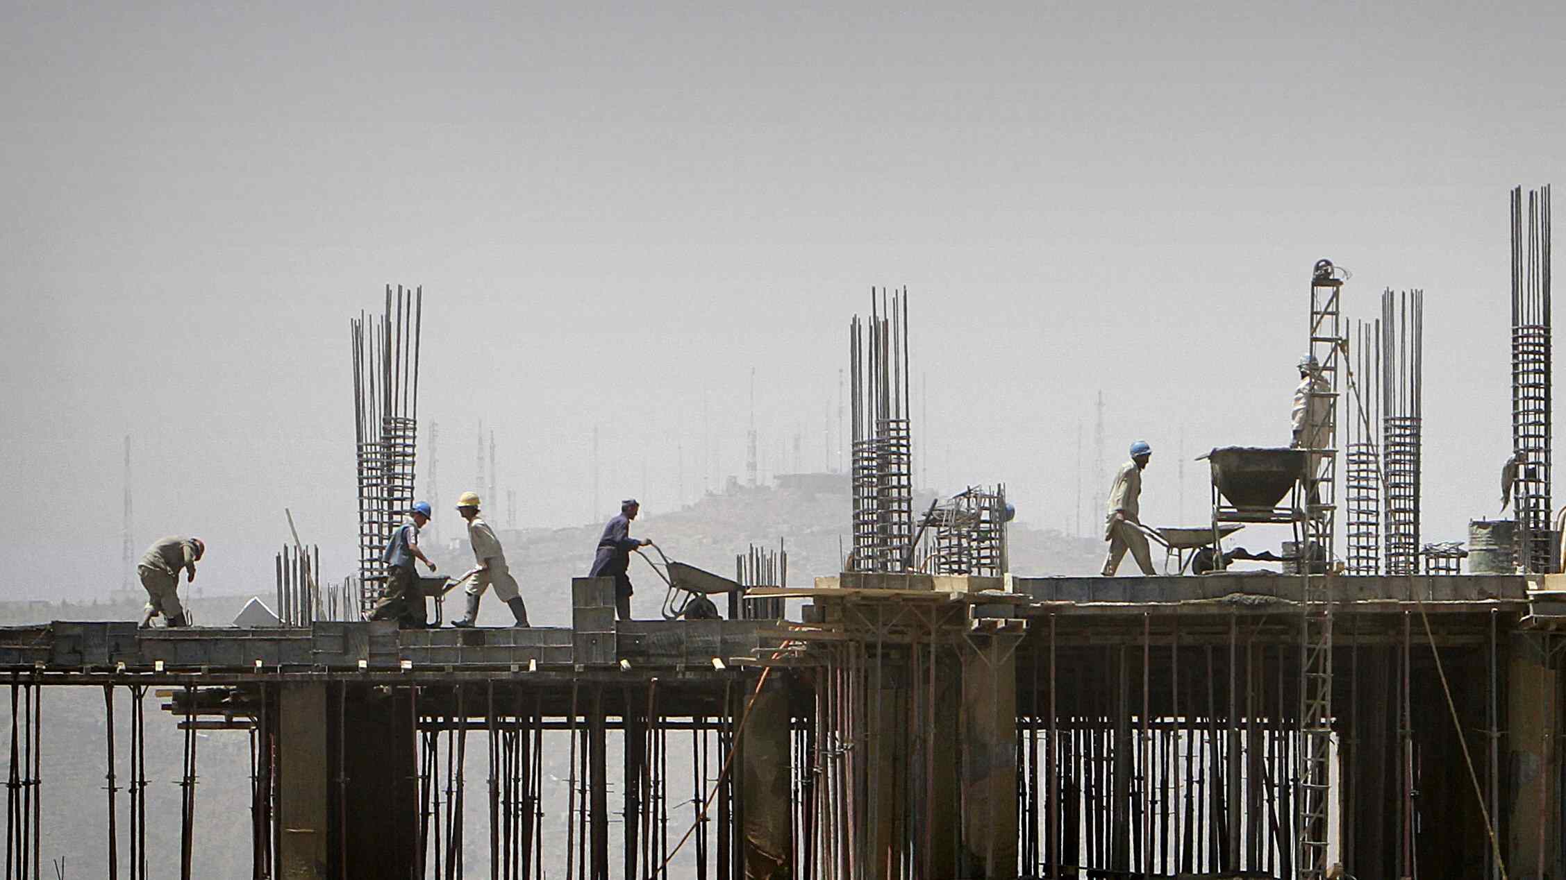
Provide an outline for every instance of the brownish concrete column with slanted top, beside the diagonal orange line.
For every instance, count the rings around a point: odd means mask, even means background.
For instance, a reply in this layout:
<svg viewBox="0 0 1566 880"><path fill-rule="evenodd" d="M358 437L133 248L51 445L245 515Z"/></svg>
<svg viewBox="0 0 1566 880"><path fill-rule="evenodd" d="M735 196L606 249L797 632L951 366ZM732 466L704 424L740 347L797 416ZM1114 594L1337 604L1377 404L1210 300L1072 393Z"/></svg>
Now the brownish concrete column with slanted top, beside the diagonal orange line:
<svg viewBox="0 0 1566 880"><path fill-rule="evenodd" d="M788 880L789 711L788 683L774 670L739 736L741 860L745 880Z"/></svg>

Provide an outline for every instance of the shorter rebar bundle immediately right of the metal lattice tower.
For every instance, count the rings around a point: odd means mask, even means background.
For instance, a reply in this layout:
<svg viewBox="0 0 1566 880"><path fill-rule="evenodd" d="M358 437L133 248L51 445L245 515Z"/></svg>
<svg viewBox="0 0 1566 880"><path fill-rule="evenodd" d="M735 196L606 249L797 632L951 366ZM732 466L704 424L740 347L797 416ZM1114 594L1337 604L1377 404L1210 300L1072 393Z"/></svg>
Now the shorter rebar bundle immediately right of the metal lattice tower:
<svg viewBox="0 0 1566 880"><path fill-rule="evenodd" d="M1351 409L1345 420L1347 565L1350 575L1381 573L1381 323L1358 321L1350 352Z"/></svg>

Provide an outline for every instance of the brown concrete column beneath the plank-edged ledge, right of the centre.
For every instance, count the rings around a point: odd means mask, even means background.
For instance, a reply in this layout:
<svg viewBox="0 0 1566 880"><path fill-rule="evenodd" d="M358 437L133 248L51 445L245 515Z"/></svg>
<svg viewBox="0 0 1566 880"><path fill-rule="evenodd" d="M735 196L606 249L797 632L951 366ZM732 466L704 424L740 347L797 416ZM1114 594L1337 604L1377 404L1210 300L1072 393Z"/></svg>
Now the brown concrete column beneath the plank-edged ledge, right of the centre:
<svg viewBox="0 0 1566 880"><path fill-rule="evenodd" d="M962 877L1016 877L1016 642L980 637L963 653Z"/></svg>

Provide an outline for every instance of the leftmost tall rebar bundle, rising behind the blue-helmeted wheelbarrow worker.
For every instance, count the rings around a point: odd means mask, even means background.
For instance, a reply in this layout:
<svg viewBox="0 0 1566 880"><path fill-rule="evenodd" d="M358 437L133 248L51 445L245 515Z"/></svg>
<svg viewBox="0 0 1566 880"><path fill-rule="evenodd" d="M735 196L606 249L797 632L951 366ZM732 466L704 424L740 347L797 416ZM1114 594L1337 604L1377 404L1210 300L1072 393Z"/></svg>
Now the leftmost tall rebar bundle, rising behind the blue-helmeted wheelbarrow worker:
<svg viewBox="0 0 1566 880"><path fill-rule="evenodd" d="M393 291L385 312L349 321L354 351L354 442L359 460L359 576L362 612L381 598L381 553L413 503L418 418L418 346L424 288Z"/></svg>

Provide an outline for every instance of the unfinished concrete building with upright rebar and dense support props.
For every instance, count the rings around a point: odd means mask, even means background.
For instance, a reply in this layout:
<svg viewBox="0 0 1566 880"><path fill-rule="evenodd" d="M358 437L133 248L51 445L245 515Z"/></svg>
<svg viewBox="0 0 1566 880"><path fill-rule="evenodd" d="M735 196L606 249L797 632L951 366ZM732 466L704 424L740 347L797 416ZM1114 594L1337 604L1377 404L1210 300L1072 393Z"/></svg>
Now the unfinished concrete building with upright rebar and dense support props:
<svg viewBox="0 0 1566 880"><path fill-rule="evenodd" d="M64 689L103 698L105 752L74 759L103 780L111 878L196 877L213 846L255 878L321 880L1566 877L1547 186L1511 191L1510 241L1511 335L1483 346L1511 360L1511 517L1467 542L1420 534L1419 290L1301 266L1278 319L1311 355L1306 438L1203 454L1207 521L1131 517L1157 573L1106 578L1013 568L1007 474L916 500L916 298L875 288L847 326L836 570L648 546L658 617L617 619L614 581L578 576L556 584L570 626L438 628L445 573L420 578L437 626L368 620L418 500L438 319L388 287L351 319L357 470L324 489L357 493L352 576L327 582L294 540L232 626L0 629L5 877L55 875L42 755ZM1242 529L1278 554L1234 551ZM149 778L152 728L183 742L172 813L149 799L169 781ZM227 780L247 836L224 841L196 831L216 739L247 756Z"/></svg>

